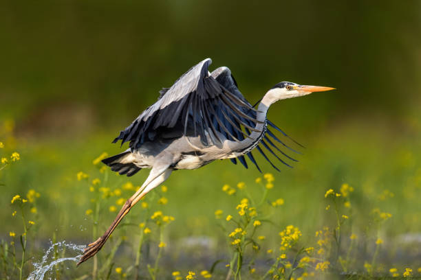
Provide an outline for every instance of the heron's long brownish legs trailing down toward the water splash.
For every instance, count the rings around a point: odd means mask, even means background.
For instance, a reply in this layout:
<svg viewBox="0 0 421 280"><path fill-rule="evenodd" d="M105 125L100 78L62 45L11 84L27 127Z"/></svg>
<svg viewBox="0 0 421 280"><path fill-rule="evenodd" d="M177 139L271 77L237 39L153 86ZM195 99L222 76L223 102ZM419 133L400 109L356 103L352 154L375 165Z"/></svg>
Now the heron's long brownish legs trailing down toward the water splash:
<svg viewBox="0 0 421 280"><path fill-rule="evenodd" d="M99 237L98 240L88 244L87 248L85 248L85 253L83 253L82 257L80 257L78 265L82 264L84 261L98 253L102 246L104 246L105 242L107 242L108 237L121 222L122 218L124 218L125 215L129 213L130 209L136 205L136 203L138 203L139 200L142 199L149 191L162 184L170 176L172 171L173 170L169 169L169 165L159 169L153 168L149 173L147 180L145 180L142 184L142 187L140 187L140 189L138 189L138 191L136 191L136 193L126 201L125 205L122 206L120 212L118 212L114 222L112 222L107 231L105 231L105 233Z"/></svg>

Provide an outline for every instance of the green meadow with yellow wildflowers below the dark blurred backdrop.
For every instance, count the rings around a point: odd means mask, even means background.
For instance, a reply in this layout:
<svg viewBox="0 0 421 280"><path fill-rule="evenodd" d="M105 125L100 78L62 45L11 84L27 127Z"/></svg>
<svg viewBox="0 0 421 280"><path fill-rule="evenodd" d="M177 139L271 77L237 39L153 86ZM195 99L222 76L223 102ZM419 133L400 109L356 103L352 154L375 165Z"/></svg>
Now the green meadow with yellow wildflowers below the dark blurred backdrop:
<svg viewBox="0 0 421 280"><path fill-rule="evenodd" d="M419 277L420 123L408 121L399 135L356 124L294 147L303 154L293 169L276 172L258 156L263 174L229 161L177 171L136 205L94 259L63 262L45 276ZM147 176L118 176L100 163L105 151L119 150L104 140L111 134L72 145L28 141L4 121L1 135L3 279L28 277L52 243L96 240ZM47 260L76 255L57 245Z"/></svg>

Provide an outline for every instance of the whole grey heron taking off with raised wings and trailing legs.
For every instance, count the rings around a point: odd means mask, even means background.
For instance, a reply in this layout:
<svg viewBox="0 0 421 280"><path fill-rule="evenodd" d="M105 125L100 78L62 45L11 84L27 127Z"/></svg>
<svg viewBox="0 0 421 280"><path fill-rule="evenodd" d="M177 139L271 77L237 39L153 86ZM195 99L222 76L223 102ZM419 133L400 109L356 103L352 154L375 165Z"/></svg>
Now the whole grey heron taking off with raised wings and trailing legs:
<svg viewBox="0 0 421 280"><path fill-rule="evenodd" d="M130 209L151 189L169 178L174 170L195 170L217 159L230 159L233 163L238 159L247 167L247 156L260 171L251 153L255 148L278 170L262 147L281 163L290 166L272 150L274 148L294 161L273 143L276 141L292 150L268 128L270 126L285 135L266 118L269 106L278 100L333 89L279 82L266 92L255 108L240 93L230 69L219 67L210 73L211 62L210 58L199 62L173 86L162 89L158 101L114 139L113 143L121 140L121 145L129 142L129 149L102 160L112 171L127 176L133 176L142 168L151 171L140 189L125 202L107 231L85 248L78 264L98 253Z"/></svg>

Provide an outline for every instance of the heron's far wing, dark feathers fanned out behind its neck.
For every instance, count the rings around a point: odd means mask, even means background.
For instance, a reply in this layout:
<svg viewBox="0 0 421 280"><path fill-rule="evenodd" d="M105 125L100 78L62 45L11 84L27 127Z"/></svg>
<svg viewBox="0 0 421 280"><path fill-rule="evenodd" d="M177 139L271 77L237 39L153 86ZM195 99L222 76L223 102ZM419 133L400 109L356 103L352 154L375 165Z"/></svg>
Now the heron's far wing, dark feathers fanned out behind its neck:
<svg viewBox="0 0 421 280"><path fill-rule="evenodd" d="M213 76L213 78L215 78L215 80L217 80L217 82L219 82L219 84L222 84L222 86L224 86L225 89L228 89L228 91L230 91L230 93L233 93L233 95L235 95L235 97L237 97L239 100L241 100L242 102L248 104L248 107L252 106L247 100L246 98L244 98L244 96L241 94L241 92L239 91L238 87L237 87L237 82L235 81L233 75L231 74L230 69L228 69L228 67L219 67L218 69L215 69L215 71L213 71L210 75ZM249 108L240 108L240 110L242 110L242 112L244 113L244 115L248 115L249 117L251 117L252 119L256 118L256 111L255 110L250 110ZM217 108L216 109L217 113L222 114L224 112L224 108ZM246 126L244 126L244 129L246 130L246 132L248 133L248 135L250 135L250 126L254 127L252 122L248 119L248 118L242 118L241 116L237 116L239 119L241 119L241 121L243 123L246 124ZM272 128L279 130L279 132L281 132L285 137L288 137L288 135L285 134L285 132L283 132L280 128L278 128L277 126L275 126L271 121L267 121L267 124L269 126L271 126ZM239 124L237 123L237 120L233 119L233 120L228 120L226 123L224 123L224 126L227 128L228 132L223 132L223 134L225 135L225 137L229 140L233 140L233 141L241 141L244 139L244 135L241 133L240 130L238 130L237 128L239 127ZM283 143L283 141L281 141L276 135L274 135L274 133L272 131L270 131L269 128L266 128L266 134L263 136L263 139L261 139L261 142L259 143L259 145L257 145L257 150L263 155L263 157L276 169L279 171L279 169L272 163L272 161L270 161L270 159L268 158L268 156L266 156L266 154L263 152L262 148L265 148L266 150L268 150L272 155L274 155L274 157L276 157L279 161L281 161L281 163L287 165L288 167L291 167L291 165L289 165L288 163L286 163L283 159L281 159L281 157L279 157L273 150L272 148L278 150L278 152L280 152L283 156L285 156L285 158L290 159L291 161L296 161L295 159L292 159L292 157L288 156L288 154L286 154L285 152L283 152L283 150L281 150L281 148L279 148L277 145L275 145L275 143L272 142L272 140L279 142L283 148L287 148L289 150L292 150L293 152L299 153L296 150L293 150L292 148L288 147L288 145L286 145L285 143ZM289 138L289 137L288 137ZM293 141L293 140L292 140ZM295 141L294 141L295 142ZM296 142L295 142L296 143ZM300 145L299 143L297 143L298 145ZM263 147L262 147L263 146ZM272 147L272 148L271 148ZM259 165L257 165L257 162L254 158L254 156L252 155L252 152L248 152L248 154L246 154L246 156L248 156L248 159L250 159L250 161L252 161L252 163L254 163L257 167L257 170L260 170ZM248 168L247 165L247 161L245 159L244 156L239 156L237 157L237 159L244 165L244 167ZM236 159L230 159L234 164L237 164L237 160Z"/></svg>

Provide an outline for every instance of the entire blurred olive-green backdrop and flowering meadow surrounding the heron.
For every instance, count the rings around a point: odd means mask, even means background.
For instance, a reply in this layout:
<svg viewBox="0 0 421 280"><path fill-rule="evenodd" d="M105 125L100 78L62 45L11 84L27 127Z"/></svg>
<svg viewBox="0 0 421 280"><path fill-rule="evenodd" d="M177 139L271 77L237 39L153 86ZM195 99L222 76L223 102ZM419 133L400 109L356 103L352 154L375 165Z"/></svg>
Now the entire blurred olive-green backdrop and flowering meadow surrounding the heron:
<svg viewBox="0 0 421 280"><path fill-rule="evenodd" d="M420 279L420 10L1 1L0 279ZM277 133L293 168L173 172L76 266L147 178L100 163L111 141L204 58L252 104L285 80L337 90L270 108L305 146Z"/></svg>

